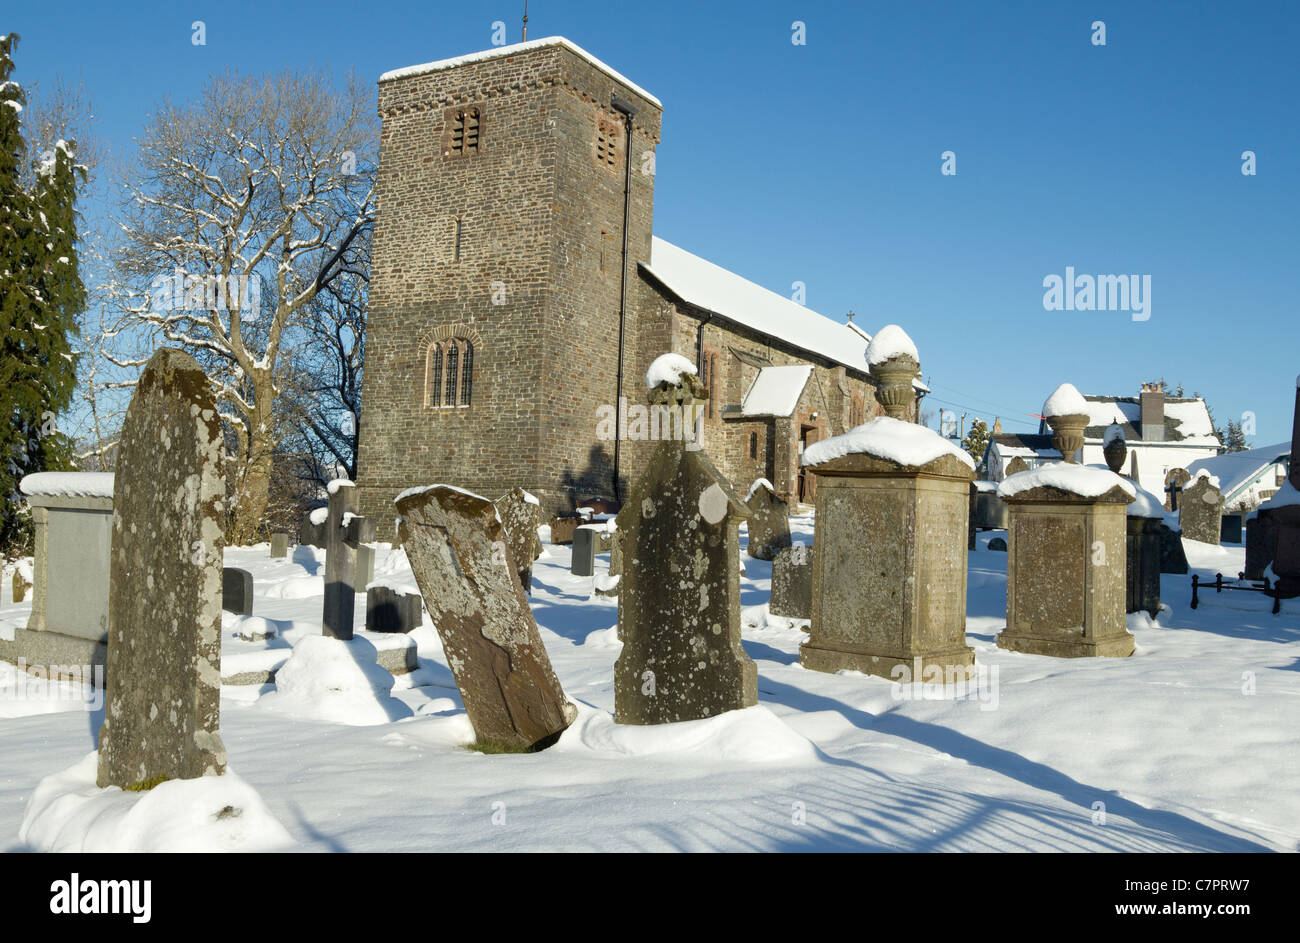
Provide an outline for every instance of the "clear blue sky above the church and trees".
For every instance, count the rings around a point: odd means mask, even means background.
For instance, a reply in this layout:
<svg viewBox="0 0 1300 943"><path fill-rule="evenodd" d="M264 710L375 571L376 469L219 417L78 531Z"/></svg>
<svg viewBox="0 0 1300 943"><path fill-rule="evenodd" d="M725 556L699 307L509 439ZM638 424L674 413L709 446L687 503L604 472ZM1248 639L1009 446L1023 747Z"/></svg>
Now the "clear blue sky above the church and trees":
<svg viewBox="0 0 1300 943"><path fill-rule="evenodd" d="M1253 412L1256 444L1290 438L1300 4L529 7L529 36L566 35L664 103L659 235L784 294L802 281L822 313L904 325L935 407L1031 431L1062 381L1136 395L1164 377L1219 424ZM516 42L521 8L27 0L0 30L22 35L14 78L83 81L99 137L130 153L153 104L211 72L377 78L486 48L498 20ZM1045 311L1067 265L1150 274L1149 320Z"/></svg>

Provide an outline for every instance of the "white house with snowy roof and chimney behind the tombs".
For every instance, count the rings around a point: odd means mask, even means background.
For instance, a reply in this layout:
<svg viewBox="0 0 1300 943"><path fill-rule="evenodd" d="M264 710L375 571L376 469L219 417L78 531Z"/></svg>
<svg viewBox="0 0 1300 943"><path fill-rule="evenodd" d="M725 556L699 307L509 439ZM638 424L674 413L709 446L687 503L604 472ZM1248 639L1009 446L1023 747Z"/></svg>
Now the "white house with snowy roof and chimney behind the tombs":
<svg viewBox="0 0 1300 943"><path fill-rule="evenodd" d="M1199 397L1169 397L1145 384L1136 397L1084 394L1083 398L1088 403L1088 427L1083 432L1080 460L1105 467L1102 437L1112 424L1118 425L1130 455L1138 455L1139 484L1153 494L1165 493L1165 476L1171 470L1187 468L1223 450L1205 401ZM1030 468L1060 460L1045 420L1039 424L1037 434L992 436L985 453L988 477L1001 481L1014 458L1024 459ZM1131 460L1126 459L1126 473Z"/></svg>

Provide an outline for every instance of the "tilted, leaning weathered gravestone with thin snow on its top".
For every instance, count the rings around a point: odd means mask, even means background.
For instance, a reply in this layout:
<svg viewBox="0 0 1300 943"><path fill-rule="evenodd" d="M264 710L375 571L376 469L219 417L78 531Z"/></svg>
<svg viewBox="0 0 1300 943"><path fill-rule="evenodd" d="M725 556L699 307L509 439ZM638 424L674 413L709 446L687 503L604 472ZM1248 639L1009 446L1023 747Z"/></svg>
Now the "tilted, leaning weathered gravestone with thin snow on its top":
<svg viewBox="0 0 1300 943"><path fill-rule="evenodd" d="M577 709L551 669L508 546L500 553L507 535L497 507L447 485L403 492L395 503L402 545L478 743L549 747Z"/></svg>

